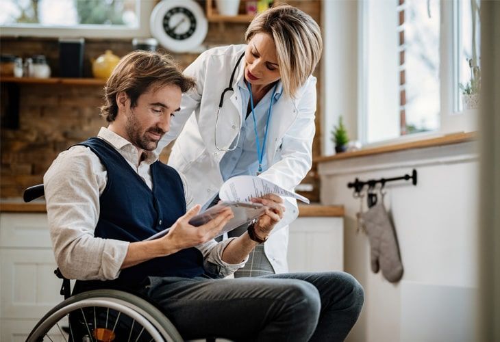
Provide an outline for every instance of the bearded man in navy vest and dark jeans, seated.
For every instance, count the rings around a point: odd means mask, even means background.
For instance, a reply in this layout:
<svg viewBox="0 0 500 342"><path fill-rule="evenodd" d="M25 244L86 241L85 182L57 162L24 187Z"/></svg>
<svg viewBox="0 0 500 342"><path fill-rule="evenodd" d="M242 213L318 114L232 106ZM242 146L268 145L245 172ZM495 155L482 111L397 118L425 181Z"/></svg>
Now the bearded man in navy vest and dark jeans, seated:
<svg viewBox="0 0 500 342"><path fill-rule="evenodd" d="M184 339L342 341L362 308L363 290L344 272L225 278L282 218L282 199L255 199L268 209L240 237L213 238L232 218L222 211L188 224L199 205L182 174L155 148L196 91L173 61L136 51L123 57L105 86L97 137L60 153L44 177L55 259L73 293L116 288L149 298ZM167 235L144 241L171 227Z"/></svg>

